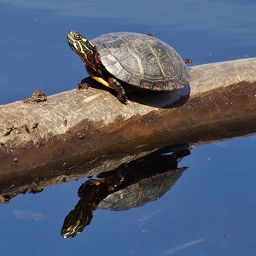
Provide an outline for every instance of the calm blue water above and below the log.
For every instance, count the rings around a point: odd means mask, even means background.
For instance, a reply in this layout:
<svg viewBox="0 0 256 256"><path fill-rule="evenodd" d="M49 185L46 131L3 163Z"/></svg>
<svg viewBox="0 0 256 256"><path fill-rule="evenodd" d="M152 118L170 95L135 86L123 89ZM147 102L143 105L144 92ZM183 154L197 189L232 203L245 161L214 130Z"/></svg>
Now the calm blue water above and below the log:
<svg viewBox="0 0 256 256"><path fill-rule="evenodd" d="M152 33L195 64L256 56L255 1L0 1L0 103L72 90L86 76L67 32ZM256 137L192 149L159 201L97 210L73 239L60 235L83 181L0 206L1 255L254 255Z"/></svg>

